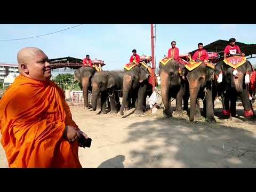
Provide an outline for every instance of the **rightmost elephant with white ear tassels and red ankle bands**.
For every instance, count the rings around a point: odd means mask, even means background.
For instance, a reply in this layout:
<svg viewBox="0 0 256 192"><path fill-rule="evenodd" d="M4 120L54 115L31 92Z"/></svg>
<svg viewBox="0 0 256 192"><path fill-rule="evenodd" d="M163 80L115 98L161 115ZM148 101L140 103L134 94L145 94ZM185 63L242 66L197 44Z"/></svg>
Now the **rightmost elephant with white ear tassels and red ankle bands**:
<svg viewBox="0 0 256 192"><path fill-rule="evenodd" d="M219 61L215 66L215 74L218 77L218 89L221 92L222 106L223 106L223 116L228 118L236 116L236 101L237 97L240 97L243 107L244 116L253 117L252 103L249 99L249 87L247 85L249 81L249 76L252 73L252 65L250 61L246 61L242 66L236 68L236 73L234 68L227 65L224 61ZM246 76L247 74L247 76ZM229 104L230 102L230 104Z"/></svg>

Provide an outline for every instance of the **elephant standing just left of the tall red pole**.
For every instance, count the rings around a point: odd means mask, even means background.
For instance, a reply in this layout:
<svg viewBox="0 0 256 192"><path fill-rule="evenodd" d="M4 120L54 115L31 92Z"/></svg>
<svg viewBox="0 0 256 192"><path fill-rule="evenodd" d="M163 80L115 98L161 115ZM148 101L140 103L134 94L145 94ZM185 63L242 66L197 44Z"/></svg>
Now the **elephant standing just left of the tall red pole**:
<svg viewBox="0 0 256 192"><path fill-rule="evenodd" d="M124 108L132 97L136 98L135 114L143 114L143 106L146 104L147 90L149 86L149 76L147 69L137 65L127 71L124 69L123 79L123 102L120 109L120 115L124 115ZM145 106L146 107L146 106Z"/></svg>

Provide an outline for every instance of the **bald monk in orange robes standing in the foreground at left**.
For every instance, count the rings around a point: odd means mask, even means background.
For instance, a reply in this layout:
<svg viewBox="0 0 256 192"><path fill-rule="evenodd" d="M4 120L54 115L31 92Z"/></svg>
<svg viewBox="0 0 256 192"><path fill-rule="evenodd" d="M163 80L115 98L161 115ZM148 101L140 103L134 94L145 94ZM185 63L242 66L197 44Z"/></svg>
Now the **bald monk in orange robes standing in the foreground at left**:
<svg viewBox="0 0 256 192"><path fill-rule="evenodd" d="M63 91L52 81L47 55L35 47L18 52L20 75L0 100L1 143L9 167L81 167L78 138Z"/></svg>

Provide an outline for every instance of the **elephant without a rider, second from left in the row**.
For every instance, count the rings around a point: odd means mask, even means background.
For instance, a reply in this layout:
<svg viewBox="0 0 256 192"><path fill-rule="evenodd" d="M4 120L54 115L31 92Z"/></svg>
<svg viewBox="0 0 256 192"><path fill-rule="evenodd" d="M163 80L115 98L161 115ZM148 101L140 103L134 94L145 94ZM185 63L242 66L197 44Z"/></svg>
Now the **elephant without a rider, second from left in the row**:
<svg viewBox="0 0 256 192"><path fill-rule="evenodd" d="M106 114L105 101L110 100L110 114L118 113L121 105L119 97L122 97L123 77L122 70L100 71L92 77L92 109L96 110L97 100L100 97L101 111Z"/></svg>

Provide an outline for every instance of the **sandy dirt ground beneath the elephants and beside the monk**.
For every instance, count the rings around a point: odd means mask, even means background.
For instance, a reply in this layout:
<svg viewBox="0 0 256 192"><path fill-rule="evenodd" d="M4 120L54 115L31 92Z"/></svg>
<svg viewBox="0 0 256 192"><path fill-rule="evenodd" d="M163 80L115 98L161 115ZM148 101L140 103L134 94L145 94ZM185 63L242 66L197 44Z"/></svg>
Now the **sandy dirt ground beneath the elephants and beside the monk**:
<svg viewBox="0 0 256 192"><path fill-rule="evenodd" d="M163 110L139 117L134 109L124 117L97 115L69 104L77 125L92 138L91 148L79 148L83 167L256 167L256 121L244 119L241 103L241 117L231 120L220 118L221 103L215 103L216 124L189 122L175 112L165 118ZM2 146L0 167L8 167Z"/></svg>

